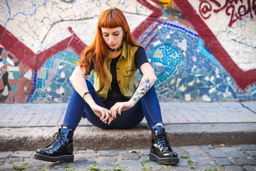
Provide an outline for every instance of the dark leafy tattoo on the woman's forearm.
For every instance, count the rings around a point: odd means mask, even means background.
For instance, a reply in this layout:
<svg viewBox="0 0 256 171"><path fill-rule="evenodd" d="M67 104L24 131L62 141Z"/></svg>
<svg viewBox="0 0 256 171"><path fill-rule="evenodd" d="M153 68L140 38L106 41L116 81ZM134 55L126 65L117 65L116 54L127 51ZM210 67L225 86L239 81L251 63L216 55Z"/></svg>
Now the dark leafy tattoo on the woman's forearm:
<svg viewBox="0 0 256 171"><path fill-rule="evenodd" d="M150 82L150 79L145 79L144 81L141 81L137 90L133 94L132 99L137 103L142 96L151 88L152 84ZM139 96L142 94L142 96Z"/></svg>

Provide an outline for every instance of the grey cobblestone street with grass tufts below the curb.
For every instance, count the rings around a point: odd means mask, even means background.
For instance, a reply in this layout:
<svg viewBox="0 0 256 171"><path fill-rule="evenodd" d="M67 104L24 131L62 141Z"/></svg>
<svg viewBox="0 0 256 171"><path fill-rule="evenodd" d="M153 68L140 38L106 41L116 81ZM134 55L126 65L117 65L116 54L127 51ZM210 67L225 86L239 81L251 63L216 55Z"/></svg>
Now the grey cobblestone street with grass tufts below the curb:
<svg viewBox="0 0 256 171"><path fill-rule="evenodd" d="M35 151L6 151L0 152L0 169L11 170L12 164L28 163L32 170L90 170L93 164L98 170L118 170L123 166L125 170L207 170L207 171L255 171L256 145L234 145L219 147L212 146L179 146L173 150L179 154L180 163L175 165L161 165L148 160L149 149L139 149L139 153L129 153L127 150L81 150L74 151L73 163L44 162L33 158ZM95 166L96 167L96 166ZM97 170L97 169L91 169Z"/></svg>

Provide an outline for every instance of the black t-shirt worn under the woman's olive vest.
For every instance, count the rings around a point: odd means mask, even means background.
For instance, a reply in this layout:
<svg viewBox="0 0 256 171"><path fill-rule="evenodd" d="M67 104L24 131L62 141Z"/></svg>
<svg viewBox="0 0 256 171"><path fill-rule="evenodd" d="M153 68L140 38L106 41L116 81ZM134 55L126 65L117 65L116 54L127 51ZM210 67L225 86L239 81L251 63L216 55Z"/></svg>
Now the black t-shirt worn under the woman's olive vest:
<svg viewBox="0 0 256 171"><path fill-rule="evenodd" d="M112 59L111 64L110 64L110 72L112 74L112 82L111 82L111 91L115 91L115 92L121 92L118 82L117 82L117 75L116 75L116 64L118 62L118 60L120 59L121 54L119 56L117 56L117 58ZM141 65L144 63L147 63L147 57L146 57L146 52L143 48L139 47L137 49L137 51L134 54L134 63L137 66L137 68L140 70L140 73L143 74L141 72Z"/></svg>

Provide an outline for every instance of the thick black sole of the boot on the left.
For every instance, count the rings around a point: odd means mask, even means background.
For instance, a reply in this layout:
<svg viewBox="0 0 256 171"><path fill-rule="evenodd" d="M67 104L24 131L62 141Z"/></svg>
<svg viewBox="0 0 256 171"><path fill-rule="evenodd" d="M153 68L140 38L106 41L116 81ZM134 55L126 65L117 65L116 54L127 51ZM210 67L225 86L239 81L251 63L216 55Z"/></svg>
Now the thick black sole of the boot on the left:
<svg viewBox="0 0 256 171"><path fill-rule="evenodd" d="M65 163L71 163L74 162L74 155L63 155L63 156L57 156L57 157L50 157L46 155L41 155L36 153L34 156L37 160L43 160L48 162L57 162L57 161L63 161Z"/></svg>

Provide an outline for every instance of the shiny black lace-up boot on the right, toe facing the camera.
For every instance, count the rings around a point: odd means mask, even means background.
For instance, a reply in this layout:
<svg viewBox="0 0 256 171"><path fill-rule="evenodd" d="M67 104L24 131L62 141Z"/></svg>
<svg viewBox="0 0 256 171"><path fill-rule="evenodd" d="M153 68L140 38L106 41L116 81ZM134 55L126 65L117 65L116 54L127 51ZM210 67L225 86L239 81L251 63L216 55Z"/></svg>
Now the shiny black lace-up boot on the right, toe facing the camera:
<svg viewBox="0 0 256 171"><path fill-rule="evenodd" d="M150 160L157 161L160 164L179 163L178 155L170 147L166 132L161 125L153 126L152 129Z"/></svg>

